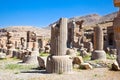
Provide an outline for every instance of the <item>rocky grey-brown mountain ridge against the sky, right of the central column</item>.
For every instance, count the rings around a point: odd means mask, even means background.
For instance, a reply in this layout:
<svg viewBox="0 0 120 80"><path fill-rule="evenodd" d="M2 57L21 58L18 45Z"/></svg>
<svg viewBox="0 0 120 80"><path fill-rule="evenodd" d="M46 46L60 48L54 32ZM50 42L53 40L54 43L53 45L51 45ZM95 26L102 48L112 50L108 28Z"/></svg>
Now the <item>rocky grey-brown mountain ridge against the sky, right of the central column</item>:
<svg viewBox="0 0 120 80"><path fill-rule="evenodd" d="M78 21L78 20L84 20L83 23L84 26L92 26L98 23L104 23L107 21L113 21L113 19L116 17L117 12L113 12L104 16L100 16L98 14L90 14L86 16L80 16L80 17L73 17L70 18L69 21Z"/></svg>

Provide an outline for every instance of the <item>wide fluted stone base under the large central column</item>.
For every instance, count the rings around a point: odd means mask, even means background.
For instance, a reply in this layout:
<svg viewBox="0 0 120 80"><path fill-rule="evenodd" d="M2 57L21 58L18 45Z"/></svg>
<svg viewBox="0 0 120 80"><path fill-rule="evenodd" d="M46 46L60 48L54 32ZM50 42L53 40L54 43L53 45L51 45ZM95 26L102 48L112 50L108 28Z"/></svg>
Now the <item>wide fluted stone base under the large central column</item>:
<svg viewBox="0 0 120 80"><path fill-rule="evenodd" d="M47 61L47 72L58 74L72 72L72 60L70 56L52 56Z"/></svg>

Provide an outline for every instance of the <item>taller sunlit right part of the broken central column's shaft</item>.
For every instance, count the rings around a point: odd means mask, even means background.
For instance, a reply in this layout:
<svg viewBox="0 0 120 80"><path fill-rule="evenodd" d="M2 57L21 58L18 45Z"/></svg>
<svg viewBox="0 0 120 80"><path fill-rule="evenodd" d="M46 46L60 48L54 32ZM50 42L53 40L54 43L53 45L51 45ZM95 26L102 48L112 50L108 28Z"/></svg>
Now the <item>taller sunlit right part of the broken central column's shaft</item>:
<svg viewBox="0 0 120 80"><path fill-rule="evenodd" d="M58 54L57 55L65 55L66 54L66 43L67 43L67 19L60 19L60 28L59 28L59 36L58 36Z"/></svg>

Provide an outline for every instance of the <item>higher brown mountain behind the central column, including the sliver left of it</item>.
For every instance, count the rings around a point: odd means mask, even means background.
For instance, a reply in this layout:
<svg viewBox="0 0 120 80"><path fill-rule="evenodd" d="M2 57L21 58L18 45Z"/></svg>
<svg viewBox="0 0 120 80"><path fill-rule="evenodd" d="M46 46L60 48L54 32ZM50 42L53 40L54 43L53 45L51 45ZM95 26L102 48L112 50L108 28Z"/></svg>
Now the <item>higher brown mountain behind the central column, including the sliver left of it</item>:
<svg viewBox="0 0 120 80"><path fill-rule="evenodd" d="M107 27L107 26L112 26L111 21L113 21L113 19L116 15L117 15L117 12L113 12L113 13L110 13L110 14L107 14L104 16L100 16L98 14L89 14L89 15L85 15L85 16L76 16L76 17L69 18L68 22L71 22L72 20L74 20L74 21L84 20L85 22L83 23L83 26L85 26L85 28L94 27L96 24L102 24L103 27ZM53 22L52 24L54 24L56 22ZM107 23L107 22L109 22L109 23ZM48 27L48 29L49 29L49 27Z"/></svg>

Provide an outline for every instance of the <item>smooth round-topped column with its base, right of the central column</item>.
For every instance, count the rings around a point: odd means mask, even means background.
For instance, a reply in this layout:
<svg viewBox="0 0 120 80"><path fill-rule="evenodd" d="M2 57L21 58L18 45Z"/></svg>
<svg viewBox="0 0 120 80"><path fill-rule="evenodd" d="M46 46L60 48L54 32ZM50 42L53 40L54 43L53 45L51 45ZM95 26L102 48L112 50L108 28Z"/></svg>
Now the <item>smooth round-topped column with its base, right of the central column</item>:
<svg viewBox="0 0 120 80"><path fill-rule="evenodd" d="M103 50L103 43L104 43L103 35L104 35L103 30L100 26L94 28L94 51L91 57L92 60L106 59L106 53Z"/></svg>

